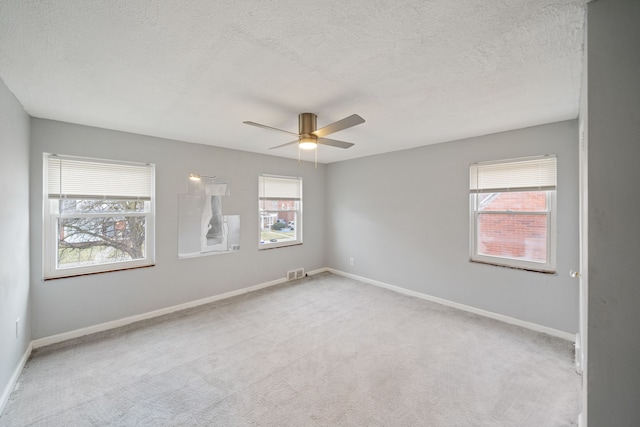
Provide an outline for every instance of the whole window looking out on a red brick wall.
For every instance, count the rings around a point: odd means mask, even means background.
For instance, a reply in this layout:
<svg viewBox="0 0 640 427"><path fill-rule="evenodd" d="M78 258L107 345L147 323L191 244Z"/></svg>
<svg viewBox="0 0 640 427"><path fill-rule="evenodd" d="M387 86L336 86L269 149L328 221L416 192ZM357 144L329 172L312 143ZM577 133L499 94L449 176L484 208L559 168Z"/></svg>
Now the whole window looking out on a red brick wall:
<svg viewBox="0 0 640 427"><path fill-rule="evenodd" d="M555 272L556 158L470 166L471 260Z"/></svg>

